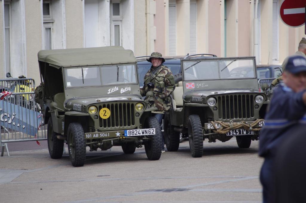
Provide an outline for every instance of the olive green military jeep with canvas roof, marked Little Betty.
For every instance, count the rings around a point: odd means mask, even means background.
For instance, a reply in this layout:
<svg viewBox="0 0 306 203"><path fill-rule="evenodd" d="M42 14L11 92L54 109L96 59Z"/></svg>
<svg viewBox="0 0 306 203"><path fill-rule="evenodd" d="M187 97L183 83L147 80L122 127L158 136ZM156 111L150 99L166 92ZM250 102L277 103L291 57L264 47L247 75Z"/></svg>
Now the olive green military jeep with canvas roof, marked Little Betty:
<svg viewBox="0 0 306 203"><path fill-rule="evenodd" d="M144 145L147 158L161 156L156 110L140 95L136 59L122 47L41 50L44 123L50 157L62 157L68 144L73 166L82 166L90 151L122 146L134 153Z"/></svg>

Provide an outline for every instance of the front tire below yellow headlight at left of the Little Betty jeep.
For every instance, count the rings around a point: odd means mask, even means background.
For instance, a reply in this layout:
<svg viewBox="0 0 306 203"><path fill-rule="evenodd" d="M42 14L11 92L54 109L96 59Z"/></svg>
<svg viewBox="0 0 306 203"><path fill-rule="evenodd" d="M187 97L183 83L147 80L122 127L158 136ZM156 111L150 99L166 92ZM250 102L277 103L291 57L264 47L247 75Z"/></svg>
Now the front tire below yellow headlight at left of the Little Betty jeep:
<svg viewBox="0 0 306 203"><path fill-rule="evenodd" d="M73 166L83 166L86 159L86 142L81 124L71 123L68 127L68 151Z"/></svg>

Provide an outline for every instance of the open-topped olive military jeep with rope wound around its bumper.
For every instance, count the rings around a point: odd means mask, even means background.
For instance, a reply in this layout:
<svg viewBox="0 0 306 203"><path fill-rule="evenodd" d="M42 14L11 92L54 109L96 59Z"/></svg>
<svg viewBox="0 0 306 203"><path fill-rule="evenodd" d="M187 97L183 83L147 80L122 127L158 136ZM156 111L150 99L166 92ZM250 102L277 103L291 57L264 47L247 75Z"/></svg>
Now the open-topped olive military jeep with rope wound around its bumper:
<svg viewBox="0 0 306 203"><path fill-rule="evenodd" d="M226 142L236 136L240 148L258 140L268 101L258 91L254 57L187 57L181 68L164 120L169 151L178 149L180 133L189 138L192 157L202 156L204 139Z"/></svg>

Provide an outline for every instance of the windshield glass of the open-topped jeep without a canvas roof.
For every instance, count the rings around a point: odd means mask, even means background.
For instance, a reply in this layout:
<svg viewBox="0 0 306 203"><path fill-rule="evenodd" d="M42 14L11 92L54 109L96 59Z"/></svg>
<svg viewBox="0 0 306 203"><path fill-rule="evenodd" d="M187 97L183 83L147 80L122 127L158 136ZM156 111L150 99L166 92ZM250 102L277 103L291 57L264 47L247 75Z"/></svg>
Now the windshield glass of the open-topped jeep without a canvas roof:
<svg viewBox="0 0 306 203"><path fill-rule="evenodd" d="M255 78L253 59L183 60L184 80Z"/></svg>

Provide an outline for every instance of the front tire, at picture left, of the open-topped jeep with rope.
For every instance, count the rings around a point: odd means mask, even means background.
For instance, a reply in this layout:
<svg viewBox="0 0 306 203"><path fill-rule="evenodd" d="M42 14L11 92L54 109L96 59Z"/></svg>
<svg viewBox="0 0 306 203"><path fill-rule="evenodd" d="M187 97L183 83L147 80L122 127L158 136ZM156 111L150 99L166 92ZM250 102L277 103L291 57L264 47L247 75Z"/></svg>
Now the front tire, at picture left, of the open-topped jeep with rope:
<svg viewBox="0 0 306 203"><path fill-rule="evenodd" d="M202 157L203 133L201 120L198 115L190 115L188 118L188 137L192 157Z"/></svg>

